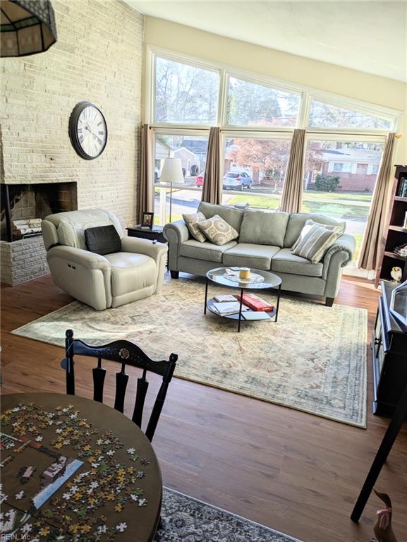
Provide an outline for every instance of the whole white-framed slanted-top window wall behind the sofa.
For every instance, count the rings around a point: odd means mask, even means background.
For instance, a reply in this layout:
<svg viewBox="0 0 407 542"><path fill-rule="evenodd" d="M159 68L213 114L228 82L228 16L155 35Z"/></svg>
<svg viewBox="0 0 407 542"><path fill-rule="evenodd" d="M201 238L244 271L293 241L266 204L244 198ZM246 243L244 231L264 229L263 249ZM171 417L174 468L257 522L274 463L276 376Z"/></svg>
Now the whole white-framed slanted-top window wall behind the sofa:
<svg viewBox="0 0 407 542"><path fill-rule="evenodd" d="M166 157L181 158L184 176L172 187L171 219L197 210L211 126L224 145L222 202L277 209L293 131L304 128L303 211L345 220L358 257L385 135L401 112L158 50L147 56L147 73L156 224L169 221L170 187L160 181Z"/></svg>

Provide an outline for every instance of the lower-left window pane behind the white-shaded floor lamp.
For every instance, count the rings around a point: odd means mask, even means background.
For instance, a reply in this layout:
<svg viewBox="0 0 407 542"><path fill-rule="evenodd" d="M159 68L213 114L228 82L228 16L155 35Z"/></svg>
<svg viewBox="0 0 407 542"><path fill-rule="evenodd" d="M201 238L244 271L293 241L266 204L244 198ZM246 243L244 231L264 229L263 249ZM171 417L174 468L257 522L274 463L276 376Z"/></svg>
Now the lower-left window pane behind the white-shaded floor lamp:
<svg viewBox="0 0 407 542"><path fill-rule="evenodd" d="M207 136L156 134L154 145L154 222L179 220L183 214L196 212L202 196L203 176L207 157ZM160 182L164 160L181 159L183 183L172 187Z"/></svg>

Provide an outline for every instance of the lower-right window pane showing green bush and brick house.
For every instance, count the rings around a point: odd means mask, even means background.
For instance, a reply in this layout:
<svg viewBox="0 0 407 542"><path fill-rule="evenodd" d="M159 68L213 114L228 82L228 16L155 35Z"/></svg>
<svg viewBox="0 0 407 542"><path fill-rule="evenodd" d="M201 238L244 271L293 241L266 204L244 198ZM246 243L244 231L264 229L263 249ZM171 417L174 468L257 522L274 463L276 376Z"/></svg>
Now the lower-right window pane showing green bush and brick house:
<svg viewBox="0 0 407 542"><path fill-rule="evenodd" d="M346 221L358 258L382 157L382 143L308 141L303 212ZM339 162L340 160L340 162Z"/></svg>

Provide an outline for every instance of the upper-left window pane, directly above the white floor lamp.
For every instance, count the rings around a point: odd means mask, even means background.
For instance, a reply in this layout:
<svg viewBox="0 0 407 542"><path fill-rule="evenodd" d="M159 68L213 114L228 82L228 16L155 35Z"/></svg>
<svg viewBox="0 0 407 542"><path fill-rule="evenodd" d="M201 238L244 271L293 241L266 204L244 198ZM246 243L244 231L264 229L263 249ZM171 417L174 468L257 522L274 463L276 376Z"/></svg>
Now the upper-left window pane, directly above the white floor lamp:
<svg viewBox="0 0 407 542"><path fill-rule="evenodd" d="M219 71L155 57L154 122L213 126Z"/></svg>

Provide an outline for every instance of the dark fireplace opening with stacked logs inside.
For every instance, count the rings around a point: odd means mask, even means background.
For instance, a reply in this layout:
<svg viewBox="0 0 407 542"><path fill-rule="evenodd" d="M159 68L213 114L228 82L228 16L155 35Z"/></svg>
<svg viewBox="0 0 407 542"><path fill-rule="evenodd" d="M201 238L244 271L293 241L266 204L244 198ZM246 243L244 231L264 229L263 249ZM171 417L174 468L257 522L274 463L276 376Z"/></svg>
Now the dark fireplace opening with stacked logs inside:
<svg viewBox="0 0 407 542"><path fill-rule="evenodd" d="M42 219L78 209L77 184L1 184L0 239L40 236Z"/></svg>

